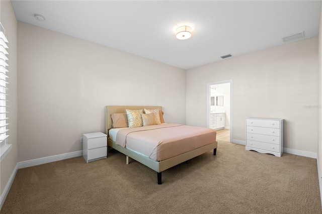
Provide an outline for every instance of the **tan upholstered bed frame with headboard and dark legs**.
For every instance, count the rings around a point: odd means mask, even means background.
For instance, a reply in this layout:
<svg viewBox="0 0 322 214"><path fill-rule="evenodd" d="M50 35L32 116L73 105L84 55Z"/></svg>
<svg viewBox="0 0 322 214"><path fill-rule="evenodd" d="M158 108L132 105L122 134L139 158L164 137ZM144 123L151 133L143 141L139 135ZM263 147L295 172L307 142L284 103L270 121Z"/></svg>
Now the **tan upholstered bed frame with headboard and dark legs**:
<svg viewBox="0 0 322 214"><path fill-rule="evenodd" d="M183 153L181 155L169 158L163 161L154 161L147 156L133 151L128 148L124 148L122 146L117 145L114 141L110 140L109 138L109 130L112 129L112 118L111 115L114 113L126 113L126 109L129 110L144 110L144 109L158 109L162 111L162 106L125 106L125 105L107 105L105 107L105 127L106 127L106 134L108 137L108 146L116 149L117 151L126 155L126 164L129 163L129 157L142 163L143 165L153 169L157 172L157 184L162 184L162 171L169 169L173 166L176 166L180 163L188 161L194 157L197 157L205 152L208 152L213 149L213 155L216 155L217 151L217 141L208 144L206 146L191 150L189 152Z"/></svg>

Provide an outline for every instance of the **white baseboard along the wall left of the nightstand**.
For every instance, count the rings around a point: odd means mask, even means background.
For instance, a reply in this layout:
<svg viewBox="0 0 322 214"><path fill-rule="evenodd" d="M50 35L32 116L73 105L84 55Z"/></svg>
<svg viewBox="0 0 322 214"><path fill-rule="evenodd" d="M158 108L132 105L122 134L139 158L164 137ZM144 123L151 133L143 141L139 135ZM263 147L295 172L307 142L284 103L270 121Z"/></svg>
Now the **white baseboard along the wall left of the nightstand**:
<svg viewBox="0 0 322 214"><path fill-rule="evenodd" d="M30 167L30 166L37 166L40 164L44 163L50 163L54 161L60 161L68 158L74 158L78 156L82 156L83 151L76 151L76 152L69 152L65 154L60 154L60 155L53 155L53 156L48 156L48 157L43 157L43 158L37 158L33 160L28 160L28 161L22 161L18 163L18 169Z"/></svg>

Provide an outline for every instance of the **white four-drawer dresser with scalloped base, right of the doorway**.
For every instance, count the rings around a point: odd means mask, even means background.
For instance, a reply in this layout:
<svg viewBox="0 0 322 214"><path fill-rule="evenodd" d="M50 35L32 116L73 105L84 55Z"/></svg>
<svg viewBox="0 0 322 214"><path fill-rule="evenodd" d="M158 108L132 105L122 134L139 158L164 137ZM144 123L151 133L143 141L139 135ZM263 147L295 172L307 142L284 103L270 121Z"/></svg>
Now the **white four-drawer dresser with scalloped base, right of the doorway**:
<svg viewBox="0 0 322 214"><path fill-rule="evenodd" d="M246 150L283 154L283 119L247 118Z"/></svg>

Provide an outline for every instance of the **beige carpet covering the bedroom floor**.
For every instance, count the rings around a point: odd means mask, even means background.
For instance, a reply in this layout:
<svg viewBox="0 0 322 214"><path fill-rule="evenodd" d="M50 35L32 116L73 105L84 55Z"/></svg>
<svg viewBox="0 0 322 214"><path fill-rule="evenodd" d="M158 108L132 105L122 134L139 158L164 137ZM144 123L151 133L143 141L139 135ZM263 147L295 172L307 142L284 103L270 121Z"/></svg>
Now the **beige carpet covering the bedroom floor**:
<svg viewBox="0 0 322 214"><path fill-rule="evenodd" d="M1 213L321 213L312 158L219 141L162 176L117 151L19 169Z"/></svg>

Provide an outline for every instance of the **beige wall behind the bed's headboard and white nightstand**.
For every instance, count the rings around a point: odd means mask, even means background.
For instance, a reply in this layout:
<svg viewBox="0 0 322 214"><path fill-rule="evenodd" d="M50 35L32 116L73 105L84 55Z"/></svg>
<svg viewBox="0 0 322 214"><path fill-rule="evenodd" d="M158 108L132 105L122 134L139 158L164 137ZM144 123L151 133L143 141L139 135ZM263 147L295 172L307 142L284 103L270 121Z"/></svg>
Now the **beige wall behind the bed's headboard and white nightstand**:
<svg viewBox="0 0 322 214"><path fill-rule="evenodd" d="M105 105L162 105L186 123L186 71L18 22L19 161L82 150Z"/></svg>

